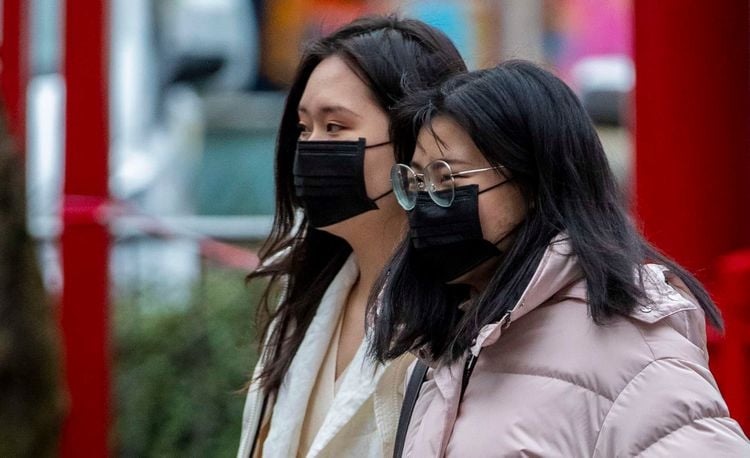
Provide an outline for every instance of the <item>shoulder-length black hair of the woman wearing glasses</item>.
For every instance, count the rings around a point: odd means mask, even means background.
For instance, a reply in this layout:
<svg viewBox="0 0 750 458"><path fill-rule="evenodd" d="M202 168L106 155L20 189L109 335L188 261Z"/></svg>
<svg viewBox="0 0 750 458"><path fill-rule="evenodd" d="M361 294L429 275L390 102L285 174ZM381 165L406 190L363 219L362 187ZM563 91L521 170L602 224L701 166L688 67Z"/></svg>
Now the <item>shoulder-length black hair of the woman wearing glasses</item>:
<svg viewBox="0 0 750 458"><path fill-rule="evenodd" d="M399 162L411 160L417 133L431 129L437 116L455 121L491 165L505 167L527 216L486 289L460 309L465 289L417 269L407 237L373 287L379 292L368 311L374 357L382 361L419 349L435 361L456 360L482 326L500 320L520 299L560 233L567 234L583 270L596 323L646 302L637 267L658 262L687 285L711 324L722 327L700 282L649 244L629 219L594 125L559 78L529 62L508 61L412 94L393 124Z"/></svg>

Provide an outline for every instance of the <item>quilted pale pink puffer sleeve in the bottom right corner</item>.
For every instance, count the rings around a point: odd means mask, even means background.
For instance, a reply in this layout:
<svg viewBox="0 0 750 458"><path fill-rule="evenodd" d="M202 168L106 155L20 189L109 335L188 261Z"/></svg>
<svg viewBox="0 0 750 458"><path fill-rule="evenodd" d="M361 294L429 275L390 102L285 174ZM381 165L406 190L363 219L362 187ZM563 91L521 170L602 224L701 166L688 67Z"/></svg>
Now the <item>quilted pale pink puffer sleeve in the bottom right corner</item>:
<svg viewBox="0 0 750 458"><path fill-rule="evenodd" d="M593 456L750 457L711 373L676 358L648 364L620 392Z"/></svg>

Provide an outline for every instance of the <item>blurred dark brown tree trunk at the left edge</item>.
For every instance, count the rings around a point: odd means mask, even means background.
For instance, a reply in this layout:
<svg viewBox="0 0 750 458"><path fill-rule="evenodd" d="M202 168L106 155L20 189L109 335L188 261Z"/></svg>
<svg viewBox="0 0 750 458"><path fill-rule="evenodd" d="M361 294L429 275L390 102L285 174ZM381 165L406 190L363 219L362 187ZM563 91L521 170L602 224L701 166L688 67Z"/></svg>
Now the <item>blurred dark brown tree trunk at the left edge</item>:
<svg viewBox="0 0 750 458"><path fill-rule="evenodd" d="M60 336L26 231L23 160L5 127L0 116L0 457L53 457L65 412Z"/></svg>

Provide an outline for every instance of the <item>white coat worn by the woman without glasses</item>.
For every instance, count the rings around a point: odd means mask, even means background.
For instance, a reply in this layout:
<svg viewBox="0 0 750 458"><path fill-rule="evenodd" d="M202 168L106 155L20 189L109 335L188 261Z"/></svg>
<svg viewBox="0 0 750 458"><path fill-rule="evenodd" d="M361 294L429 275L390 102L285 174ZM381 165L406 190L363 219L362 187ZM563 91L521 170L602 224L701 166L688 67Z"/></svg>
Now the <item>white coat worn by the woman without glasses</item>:
<svg viewBox="0 0 750 458"><path fill-rule="evenodd" d="M275 400L269 402L263 421L271 426L263 446L263 458L298 455L300 434L308 401L338 318L359 271L350 256L329 285L310 327L294 356ZM355 456L389 457L393 454L398 417L403 401L404 379L413 357L385 365L367 356L363 342L341 375L343 379L331 408L315 436L307 458ZM260 363L259 363L260 366ZM255 368L255 376L261 367ZM248 391L242 420L238 458L247 458L261 419L264 396L257 382Z"/></svg>

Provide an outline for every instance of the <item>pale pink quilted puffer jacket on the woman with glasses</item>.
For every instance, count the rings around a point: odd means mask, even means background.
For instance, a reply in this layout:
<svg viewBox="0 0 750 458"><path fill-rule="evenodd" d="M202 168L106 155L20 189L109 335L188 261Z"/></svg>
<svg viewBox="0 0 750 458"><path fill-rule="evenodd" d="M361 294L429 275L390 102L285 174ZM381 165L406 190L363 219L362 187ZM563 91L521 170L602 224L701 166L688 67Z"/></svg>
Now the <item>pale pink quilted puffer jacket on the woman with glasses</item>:
<svg viewBox="0 0 750 458"><path fill-rule="evenodd" d="M507 322L482 330L462 402L464 361L428 371L404 456L750 457L684 284L645 266L654 304L599 326L568 250L553 243Z"/></svg>

